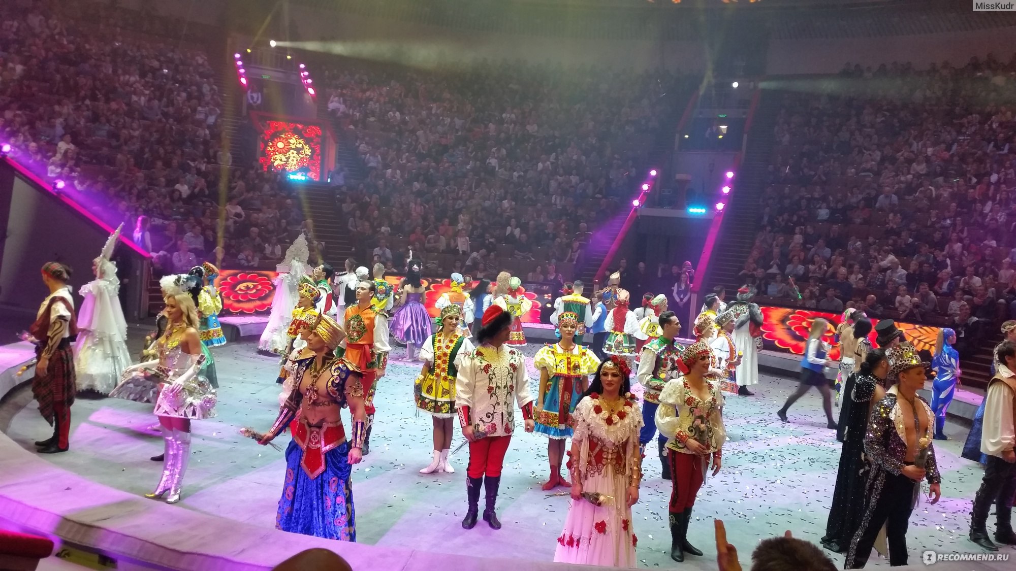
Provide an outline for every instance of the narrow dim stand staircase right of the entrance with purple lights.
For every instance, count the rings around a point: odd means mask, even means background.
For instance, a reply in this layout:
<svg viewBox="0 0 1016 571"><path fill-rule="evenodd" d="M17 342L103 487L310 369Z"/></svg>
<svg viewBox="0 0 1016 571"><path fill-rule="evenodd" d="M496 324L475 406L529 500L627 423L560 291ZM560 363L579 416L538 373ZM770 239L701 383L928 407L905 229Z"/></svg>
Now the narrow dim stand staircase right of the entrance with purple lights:
<svg viewBox="0 0 1016 571"><path fill-rule="evenodd" d="M779 101L778 91L762 91L755 109L751 132L748 133L747 149L738 168L729 208L723 214L716 255L709 262L709 275L699 276L699 279L706 279L707 284L723 286L727 292L737 291L743 286L738 274L755 244L755 220L765 188L766 170L772 158L775 143L772 130L776 124Z"/></svg>

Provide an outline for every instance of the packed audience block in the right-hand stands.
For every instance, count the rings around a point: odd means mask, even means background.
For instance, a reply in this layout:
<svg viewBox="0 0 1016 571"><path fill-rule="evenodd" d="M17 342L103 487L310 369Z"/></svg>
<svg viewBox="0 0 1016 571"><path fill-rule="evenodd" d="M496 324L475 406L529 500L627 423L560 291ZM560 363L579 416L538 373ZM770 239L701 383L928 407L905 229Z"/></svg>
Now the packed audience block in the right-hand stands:
<svg viewBox="0 0 1016 571"><path fill-rule="evenodd" d="M783 92L743 279L784 304L948 325L960 344L997 330L1016 312L1013 71L847 66L836 94Z"/></svg>

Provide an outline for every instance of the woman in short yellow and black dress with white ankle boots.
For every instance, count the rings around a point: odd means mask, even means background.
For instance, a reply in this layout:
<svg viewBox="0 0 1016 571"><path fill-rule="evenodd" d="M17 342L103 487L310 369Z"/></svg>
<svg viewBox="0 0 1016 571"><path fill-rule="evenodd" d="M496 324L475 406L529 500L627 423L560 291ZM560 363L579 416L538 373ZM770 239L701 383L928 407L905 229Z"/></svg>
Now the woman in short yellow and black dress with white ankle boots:
<svg viewBox="0 0 1016 571"><path fill-rule="evenodd" d="M441 309L438 330L424 342L420 359L424 368L414 383L417 408L434 419L434 459L420 473L443 471L455 473L448 462L454 434L455 377L462 359L472 351L472 343L458 326L462 308L448 304Z"/></svg>

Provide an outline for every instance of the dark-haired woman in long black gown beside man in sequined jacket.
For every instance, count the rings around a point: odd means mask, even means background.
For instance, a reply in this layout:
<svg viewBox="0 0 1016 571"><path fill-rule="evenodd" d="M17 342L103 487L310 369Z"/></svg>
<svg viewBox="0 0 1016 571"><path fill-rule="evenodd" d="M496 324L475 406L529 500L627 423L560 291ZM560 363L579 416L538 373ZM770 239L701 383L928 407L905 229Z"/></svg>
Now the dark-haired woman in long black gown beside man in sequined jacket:
<svg viewBox="0 0 1016 571"><path fill-rule="evenodd" d="M868 323L871 327L871 322ZM839 454L826 532L822 536L822 547L833 553L845 553L861 526L868 471L865 435L872 407L885 396L882 383L888 374L889 360L885 352L872 350L861 363L861 370L847 377L842 408L846 415L841 414L839 421L839 430L844 435L843 448Z"/></svg>

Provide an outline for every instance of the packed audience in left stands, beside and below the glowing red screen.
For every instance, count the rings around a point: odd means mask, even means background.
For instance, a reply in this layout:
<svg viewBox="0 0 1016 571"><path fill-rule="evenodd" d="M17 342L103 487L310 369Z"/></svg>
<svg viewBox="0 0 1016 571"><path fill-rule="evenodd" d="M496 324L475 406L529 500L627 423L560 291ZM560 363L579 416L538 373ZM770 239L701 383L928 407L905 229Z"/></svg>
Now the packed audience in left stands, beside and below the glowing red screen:
<svg viewBox="0 0 1016 571"><path fill-rule="evenodd" d="M22 165L123 223L157 269L281 257L304 216L275 175L234 167L220 146L223 96L206 55L125 31L179 26L48 0L4 3L0 18L0 140Z"/></svg>

